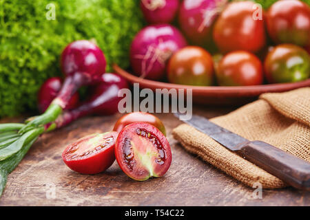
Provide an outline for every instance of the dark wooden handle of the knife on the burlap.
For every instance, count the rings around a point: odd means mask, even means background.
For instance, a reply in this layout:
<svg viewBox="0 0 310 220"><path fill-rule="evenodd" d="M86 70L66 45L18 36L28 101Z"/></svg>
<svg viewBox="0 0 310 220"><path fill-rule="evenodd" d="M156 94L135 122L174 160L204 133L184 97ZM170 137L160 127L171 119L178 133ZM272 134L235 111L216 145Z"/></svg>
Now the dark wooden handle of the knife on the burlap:
<svg viewBox="0 0 310 220"><path fill-rule="evenodd" d="M310 190L310 163L265 142L242 144L236 151L285 183Z"/></svg>

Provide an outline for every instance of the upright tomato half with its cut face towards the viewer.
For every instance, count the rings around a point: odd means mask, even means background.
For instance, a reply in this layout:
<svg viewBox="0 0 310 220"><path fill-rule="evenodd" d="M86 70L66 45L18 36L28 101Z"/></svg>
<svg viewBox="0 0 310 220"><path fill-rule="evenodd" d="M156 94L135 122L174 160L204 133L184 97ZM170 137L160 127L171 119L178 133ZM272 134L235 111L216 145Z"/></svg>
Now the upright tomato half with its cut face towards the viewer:
<svg viewBox="0 0 310 220"><path fill-rule="evenodd" d="M115 156L123 172L138 181L162 177L172 162L165 135L145 122L125 126L117 137Z"/></svg>

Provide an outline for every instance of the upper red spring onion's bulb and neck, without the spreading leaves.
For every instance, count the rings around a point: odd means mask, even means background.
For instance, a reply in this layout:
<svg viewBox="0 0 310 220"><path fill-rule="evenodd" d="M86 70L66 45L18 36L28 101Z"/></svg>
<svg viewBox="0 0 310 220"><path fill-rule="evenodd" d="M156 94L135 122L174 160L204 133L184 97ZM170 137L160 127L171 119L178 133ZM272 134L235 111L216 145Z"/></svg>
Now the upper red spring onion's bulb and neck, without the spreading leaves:
<svg viewBox="0 0 310 220"><path fill-rule="evenodd" d="M28 124L19 132L24 133L31 127L56 120L76 91L83 85L96 83L105 73L105 67L105 56L94 43L85 40L70 43L61 54L61 70L65 74L65 80L59 94L42 115L28 120Z"/></svg>

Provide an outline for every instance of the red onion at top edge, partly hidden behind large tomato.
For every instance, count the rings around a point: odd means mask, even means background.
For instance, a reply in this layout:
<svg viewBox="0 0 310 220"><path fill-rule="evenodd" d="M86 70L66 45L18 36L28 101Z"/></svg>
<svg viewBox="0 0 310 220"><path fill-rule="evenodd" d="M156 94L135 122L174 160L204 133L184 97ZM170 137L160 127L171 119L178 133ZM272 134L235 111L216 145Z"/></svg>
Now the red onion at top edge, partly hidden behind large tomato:
<svg viewBox="0 0 310 220"><path fill-rule="evenodd" d="M209 45L214 22L226 4L227 0L184 0L178 23L187 39L195 45Z"/></svg>

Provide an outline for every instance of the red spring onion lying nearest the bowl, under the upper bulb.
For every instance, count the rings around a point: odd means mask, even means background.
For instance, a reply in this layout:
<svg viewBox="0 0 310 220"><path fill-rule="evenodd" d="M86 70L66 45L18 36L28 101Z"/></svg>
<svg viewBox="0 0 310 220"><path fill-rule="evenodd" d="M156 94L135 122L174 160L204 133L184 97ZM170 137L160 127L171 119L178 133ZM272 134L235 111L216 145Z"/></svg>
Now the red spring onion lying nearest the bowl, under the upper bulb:
<svg viewBox="0 0 310 220"><path fill-rule="evenodd" d="M125 78L116 74L103 74L101 82L90 89L90 98L57 118L57 127L63 127L85 115L113 115L118 112L118 102L122 99L118 97L118 91L124 88L129 88Z"/></svg>

